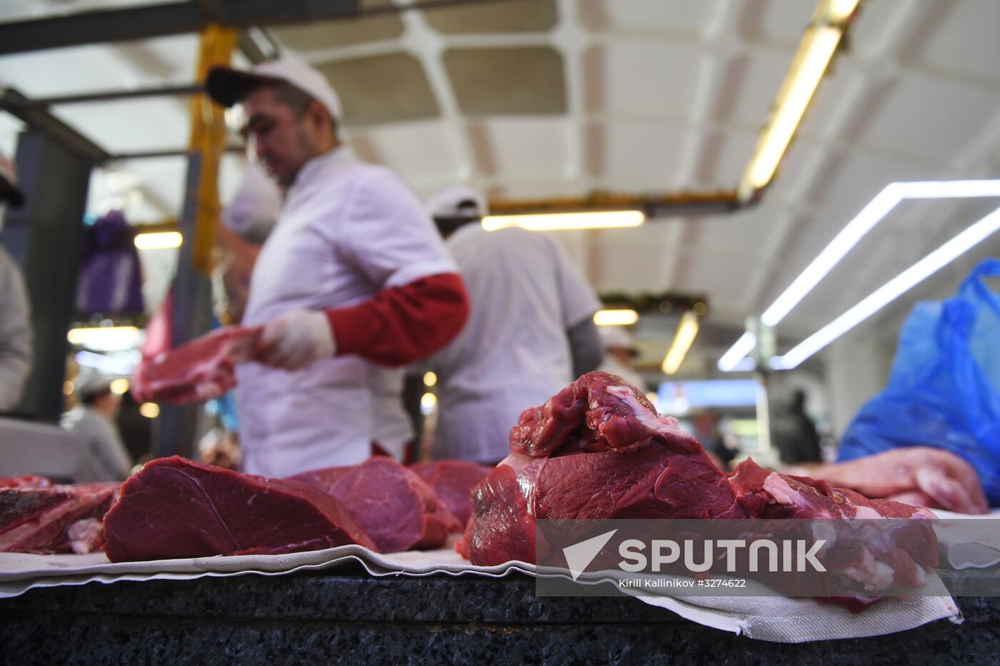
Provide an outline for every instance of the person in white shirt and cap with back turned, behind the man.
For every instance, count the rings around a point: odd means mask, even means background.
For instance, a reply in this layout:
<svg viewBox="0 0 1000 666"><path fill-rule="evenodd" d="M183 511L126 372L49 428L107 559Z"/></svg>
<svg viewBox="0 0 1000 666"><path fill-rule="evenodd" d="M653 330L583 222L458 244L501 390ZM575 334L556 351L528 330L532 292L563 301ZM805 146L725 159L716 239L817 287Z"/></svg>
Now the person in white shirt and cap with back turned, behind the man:
<svg viewBox="0 0 1000 666"><path fill-rule="evenodd" d="M496 463L521 412L601 362L600 304L550 236L486 231L477 192L448 188L428 208L469 289L465 329L435 354L436 458Z"/></svg>

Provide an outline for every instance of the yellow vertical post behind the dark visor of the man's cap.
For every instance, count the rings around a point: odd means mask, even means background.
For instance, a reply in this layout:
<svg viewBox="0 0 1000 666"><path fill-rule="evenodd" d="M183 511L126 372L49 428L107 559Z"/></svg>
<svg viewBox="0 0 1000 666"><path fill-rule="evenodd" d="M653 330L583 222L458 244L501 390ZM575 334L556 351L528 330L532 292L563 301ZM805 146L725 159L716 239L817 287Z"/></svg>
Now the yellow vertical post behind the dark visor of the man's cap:
<svg viewBox="0 0 1000 666"><path fill-rule="evenodd" d="M196 80L204 82L214 65L228 65L236 48L237 31L211 24L201 33ZM194 269L203 274L212 270L212 247L215 225L222 212L219 204L219 161L226 145L226 123L223 108L208 95L191 98L192 152L201 155L198 191L188 192L197 202L195 233L192 244Z"/></svg>

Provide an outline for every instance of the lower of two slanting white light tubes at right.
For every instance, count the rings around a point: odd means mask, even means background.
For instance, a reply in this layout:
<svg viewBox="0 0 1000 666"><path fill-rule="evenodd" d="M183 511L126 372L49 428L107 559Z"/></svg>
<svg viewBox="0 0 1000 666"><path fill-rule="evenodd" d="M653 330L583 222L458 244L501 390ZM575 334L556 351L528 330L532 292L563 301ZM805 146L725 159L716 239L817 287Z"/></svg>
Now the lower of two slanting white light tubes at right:
<svg viewBox="0 0 1000 666"><path fill-rule="evenodd" d="M771 359L776 370L791 370L871 317L911 288L1000 230L1000 208L958 234L905 271L886 282L857 305L790 349Z"/></svg>

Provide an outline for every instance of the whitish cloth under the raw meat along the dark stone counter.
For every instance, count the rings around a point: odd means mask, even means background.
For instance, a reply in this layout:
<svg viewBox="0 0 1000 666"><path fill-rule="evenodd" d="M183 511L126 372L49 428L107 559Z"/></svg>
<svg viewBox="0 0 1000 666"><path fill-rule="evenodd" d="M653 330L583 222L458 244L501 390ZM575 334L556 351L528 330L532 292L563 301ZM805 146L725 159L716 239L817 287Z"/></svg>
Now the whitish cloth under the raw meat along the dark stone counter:
<svg viewBox="0 0 1000 666"><path fill-rule="evenodd" d="M351 545L288 555L199 557L118 564L109 563L103 553L0 553L0 597L17 596L35 587L83 585L93 581L190 580L202 576L244 574L274 576L327 569L348 562L360 562L373 576L450 574L501 578L511 573L524 573L565 577L565 572L556 573L557 570L525 562L477 567L451 549L383 555ZM805 598L718 596L682 599L649 594L636 598L704 626L781 643L878 636L913 629L943 618L956 623L961 621L961 613L951 597L918 597L907 601L885 599L858 614L840 606Z"/></svg>

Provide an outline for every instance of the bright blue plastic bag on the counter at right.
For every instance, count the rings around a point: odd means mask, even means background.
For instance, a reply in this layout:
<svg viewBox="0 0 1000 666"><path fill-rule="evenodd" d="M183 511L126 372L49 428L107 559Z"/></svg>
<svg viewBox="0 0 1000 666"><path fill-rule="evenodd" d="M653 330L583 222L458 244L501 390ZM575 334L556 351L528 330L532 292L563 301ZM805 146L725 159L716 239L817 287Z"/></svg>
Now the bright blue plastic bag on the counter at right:
<svg viewBox="0 0 1000 666"><path fill-rule="evenodd" d="M844 433L838 459L900 446L930 446L975 468L991 506L1000 505L1000 296L980 263L941 303L914 306L899 334L889 384Z"/></svg>

